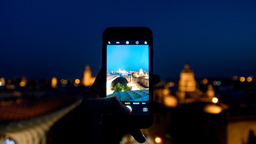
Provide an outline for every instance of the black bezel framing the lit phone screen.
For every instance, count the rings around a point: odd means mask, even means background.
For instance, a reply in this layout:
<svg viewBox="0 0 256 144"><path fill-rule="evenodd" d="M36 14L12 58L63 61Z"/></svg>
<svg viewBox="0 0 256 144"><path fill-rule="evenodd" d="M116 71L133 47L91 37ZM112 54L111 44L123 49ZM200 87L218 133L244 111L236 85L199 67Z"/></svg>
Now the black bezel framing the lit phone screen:
<svg viewBox="0 0 256 144"><path fill-rule="evenodd" d="M108 119L121 119L127 122L136 121L136 123L128 124L131 128L148 128L153 124L153 35L152 31L146 27L109 27L106 28L102 35L102 81L103 94L106 97L106 71L107 71L107 41L108 40L148 40L149 47L149 115L130 115L115 116L104 115Z"/></svg>

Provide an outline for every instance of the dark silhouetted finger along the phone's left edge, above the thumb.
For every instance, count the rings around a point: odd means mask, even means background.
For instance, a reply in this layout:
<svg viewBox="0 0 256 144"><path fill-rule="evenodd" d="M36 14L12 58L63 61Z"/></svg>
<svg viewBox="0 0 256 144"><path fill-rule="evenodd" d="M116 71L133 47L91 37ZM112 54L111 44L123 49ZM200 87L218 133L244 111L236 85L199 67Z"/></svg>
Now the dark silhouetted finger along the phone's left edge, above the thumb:
<svg viewBox="0 0 256 144"><path fill-rule="evenodd" d="M86 98L96 99L96 98L100 98L101 95L102 95L102 67L100 68L100 71L96 76L94 83L87 91Z"/></svg>

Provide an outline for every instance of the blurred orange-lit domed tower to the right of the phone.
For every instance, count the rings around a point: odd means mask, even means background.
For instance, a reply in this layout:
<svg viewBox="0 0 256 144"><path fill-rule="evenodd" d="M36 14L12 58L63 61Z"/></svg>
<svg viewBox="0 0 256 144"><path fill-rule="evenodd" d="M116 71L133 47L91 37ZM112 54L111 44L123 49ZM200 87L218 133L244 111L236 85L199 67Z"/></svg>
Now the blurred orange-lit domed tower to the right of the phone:
<svg viewBox="0 0 256 144"><path fill-rule="evenodd" d="M190 69L188 64L185 64L184 69L180 73L179 91L180 92L196 91L195 74Z"/></svg>

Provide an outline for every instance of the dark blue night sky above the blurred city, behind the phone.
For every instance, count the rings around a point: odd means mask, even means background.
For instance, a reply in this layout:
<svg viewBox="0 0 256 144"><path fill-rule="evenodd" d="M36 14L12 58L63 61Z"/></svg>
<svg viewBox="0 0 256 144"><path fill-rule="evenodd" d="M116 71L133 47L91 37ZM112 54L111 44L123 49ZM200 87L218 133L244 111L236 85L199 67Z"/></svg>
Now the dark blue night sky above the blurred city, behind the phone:
<svg viewBox="0 0 256 144"><path fill-rule="evenodd" d="M256 1L1 1L0 77L82 78L101 67L102 32L148 27L154 73L256 75Z"/></svg>

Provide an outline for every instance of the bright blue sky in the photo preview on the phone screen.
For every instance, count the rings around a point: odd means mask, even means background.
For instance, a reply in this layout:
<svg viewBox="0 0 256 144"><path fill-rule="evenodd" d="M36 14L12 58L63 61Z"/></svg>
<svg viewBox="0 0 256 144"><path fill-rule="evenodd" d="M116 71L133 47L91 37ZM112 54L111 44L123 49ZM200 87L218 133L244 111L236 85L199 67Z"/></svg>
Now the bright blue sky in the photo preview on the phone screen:
<svg viewBox="0 0 256 144"><path fill-rule="evenodd" d="M107 45L107 71L148 71L148 45Z"/></svg>

